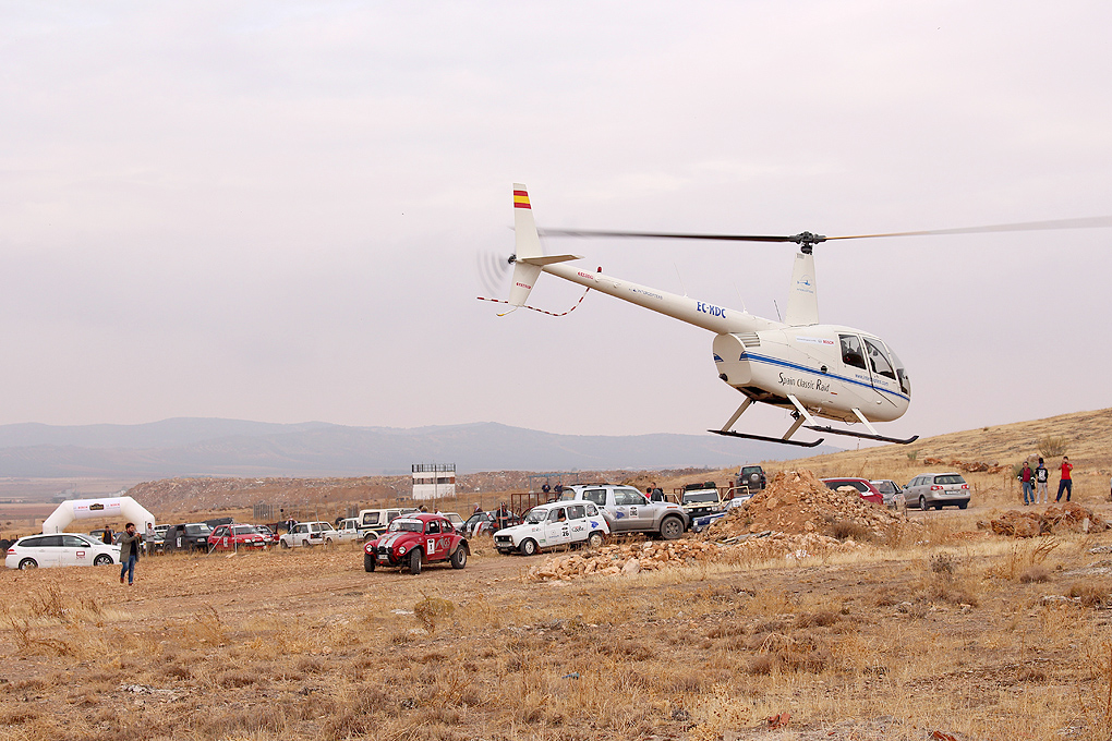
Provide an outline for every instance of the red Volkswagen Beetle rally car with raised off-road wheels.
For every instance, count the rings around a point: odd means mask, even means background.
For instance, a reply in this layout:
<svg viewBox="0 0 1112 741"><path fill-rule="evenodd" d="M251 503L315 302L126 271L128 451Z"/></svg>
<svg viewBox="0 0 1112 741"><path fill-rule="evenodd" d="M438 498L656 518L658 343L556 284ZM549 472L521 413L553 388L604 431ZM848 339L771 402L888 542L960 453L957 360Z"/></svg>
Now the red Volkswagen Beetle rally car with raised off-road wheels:
<svg viewBox="0 0 1112 741"><path fill-rule="evenodd" d="M363 568L409 567L420 573L423 563L448 561L453 569L467 565L470 548L467 539L456 532L451 521L439 514L411 512L390 522L379 538L363 547Z"/></svg>

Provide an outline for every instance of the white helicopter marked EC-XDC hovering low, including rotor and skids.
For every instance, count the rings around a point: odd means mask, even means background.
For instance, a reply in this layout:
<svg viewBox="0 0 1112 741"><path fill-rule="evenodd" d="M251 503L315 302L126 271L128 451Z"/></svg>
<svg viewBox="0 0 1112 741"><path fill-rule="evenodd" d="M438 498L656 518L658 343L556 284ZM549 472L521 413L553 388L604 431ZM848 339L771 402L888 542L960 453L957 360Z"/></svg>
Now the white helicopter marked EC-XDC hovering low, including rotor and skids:
<svg viewBox="0 0 1112 741"><path fill-rule="evenodd" d="M891 346L880 337L852 327L824 324L818 321L815 290L814 247L840 239L960 234L1034 229L1073 229L1112 226L1112 218L1040 221L963 229L888 232L824 237L810 231L792 236L701 234L681 232L605 231L546 229L538 232L524 184L514 184L515 252L504 266L513 266L513 283L507 300L483 299L507 303L504 317L527 306L529 292L542 272L613 296L651 311L693 324L715 333L712 342L718 378L744 395L737 410L715 434L761 440L788 445L814 448L825 438L802 441L793 435L801 428L822 434L836 434L878 442L910 444L919 439L881 434L874 422L900 419L911 404L911 379L906 366ZM602 268L592 272L574 264L577 254L545 254L540 236L610 237L642 239L695 239L747 242L792 242L798 246L792 269L792 282L783 320L751 314L709 301L642 286L604 274ZM580 298L582 301L582 298ZM574 309L574 307L573 307ZM566 313L566 312L565 312ZM560 314L554 314L560 316ZM770 404L791 413L792 424L780 438L735 431L733 428L754 403ZM847 430L823 424L831 420L846 424L861 423L867 431Z"/></svg>

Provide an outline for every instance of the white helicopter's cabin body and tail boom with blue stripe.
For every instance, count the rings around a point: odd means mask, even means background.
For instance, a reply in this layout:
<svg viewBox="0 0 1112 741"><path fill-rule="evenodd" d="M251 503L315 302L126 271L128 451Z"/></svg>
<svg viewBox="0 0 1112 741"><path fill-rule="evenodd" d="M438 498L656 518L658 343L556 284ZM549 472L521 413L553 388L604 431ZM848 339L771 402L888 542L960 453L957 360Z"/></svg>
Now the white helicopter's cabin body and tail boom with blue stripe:
<svg viewBox="0 0 1112 741"><path fill-rule="evenodd" d="M791 394L812 414L843 422L860 421L854 409L870 422L888 422L907 411L911 387L906 373L875 336L835 324L791 326L590 272L567 261L538 267L715 332L718 378L754 401L794 409Z"/></svg>

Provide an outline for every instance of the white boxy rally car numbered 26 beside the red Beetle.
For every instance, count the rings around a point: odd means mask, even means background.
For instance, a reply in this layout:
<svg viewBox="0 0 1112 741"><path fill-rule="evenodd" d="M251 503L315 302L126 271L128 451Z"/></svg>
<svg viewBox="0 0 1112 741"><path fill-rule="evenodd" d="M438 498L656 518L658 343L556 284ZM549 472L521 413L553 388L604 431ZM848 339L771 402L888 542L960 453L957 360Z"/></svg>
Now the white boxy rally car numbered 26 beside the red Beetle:
<svg viewBox="0 0 1112 741"><path fill-rule="evenodd" d="M543 548L587 543L603 544L610 528L592 502L553 502L538 504L525 513L522 524L494 533L499 553L520 551L533 555Z"/></svg>

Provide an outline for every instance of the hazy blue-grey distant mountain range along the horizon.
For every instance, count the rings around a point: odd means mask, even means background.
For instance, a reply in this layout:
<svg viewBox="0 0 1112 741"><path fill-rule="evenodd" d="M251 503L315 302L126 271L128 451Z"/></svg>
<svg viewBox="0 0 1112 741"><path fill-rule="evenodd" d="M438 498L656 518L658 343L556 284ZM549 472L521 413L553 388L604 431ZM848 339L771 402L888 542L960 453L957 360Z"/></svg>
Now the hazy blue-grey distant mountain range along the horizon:
<svg viewBox="0 0 1112 741"><path fill-rule="evenodd" d="M395 429L327 422L271 424L177 418L147 424L0 425L0 477L290 475L408 473L413 463L476 471L722 468L836 452L712 434L552 434L476 422Z"/></svg>

